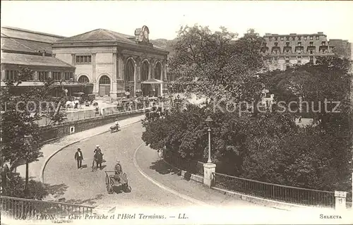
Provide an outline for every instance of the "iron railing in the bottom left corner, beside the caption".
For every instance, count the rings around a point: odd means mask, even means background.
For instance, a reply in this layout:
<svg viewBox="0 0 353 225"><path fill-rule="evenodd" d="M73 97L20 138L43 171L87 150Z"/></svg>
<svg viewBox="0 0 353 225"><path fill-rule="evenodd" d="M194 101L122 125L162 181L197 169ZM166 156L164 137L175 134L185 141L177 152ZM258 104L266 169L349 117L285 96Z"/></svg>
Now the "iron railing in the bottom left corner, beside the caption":
<svg viewBox="0 0 353 225"><path fill-rule="evenodd" d="M30 200L18 197L1 196L1 217L8 219L52 219L57 220L75 216L92 215L95 207L84 205L73 205L62 202L49 202L41 200Z"/></svg>

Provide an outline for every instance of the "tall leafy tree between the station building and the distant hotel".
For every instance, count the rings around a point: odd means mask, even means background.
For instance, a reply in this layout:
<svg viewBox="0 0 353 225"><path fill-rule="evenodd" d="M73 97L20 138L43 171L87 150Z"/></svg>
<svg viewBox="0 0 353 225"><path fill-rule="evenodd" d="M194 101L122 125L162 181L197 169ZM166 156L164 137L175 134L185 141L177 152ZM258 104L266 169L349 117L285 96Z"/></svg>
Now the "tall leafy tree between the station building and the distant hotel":
<svg viewBox="0 0 353 225"><path fill-rule="evenodd" d="M187 92L215 101L258 98L263 88L256 74L263 68L259 54L263 38L249 30L234 40L237 34L220 29L213 33L208 27L194 25L179 30L169 62L176 83L186 85Z"/></svg>

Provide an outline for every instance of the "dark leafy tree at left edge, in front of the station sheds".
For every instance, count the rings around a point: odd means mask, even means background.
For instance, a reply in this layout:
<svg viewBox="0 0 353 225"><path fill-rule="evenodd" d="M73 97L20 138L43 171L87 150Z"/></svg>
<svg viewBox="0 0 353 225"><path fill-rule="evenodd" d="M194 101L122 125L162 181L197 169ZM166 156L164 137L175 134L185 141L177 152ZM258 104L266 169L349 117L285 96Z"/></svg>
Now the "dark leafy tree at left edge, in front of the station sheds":
<svg viewBox="0 0 353 225"><path fill-rule="evenodd" d="M43 111L49 114L52 121L62 121L63 113L59 113L63 96L55 99L51 97L55 88L54 81L49 80L42 87L32 87L18 93L18 86L33 75L33 71L22 68L16 80L8 80L6 87L1 89L1 103L4 111L1 115L1 155L6 162L10 162L11 171L18 164L25 162L26 177L25 190L28 190L28 164L42 157L40 120ZM59 107L56 107L56 103ZM25 145L25 135L31 135L30 145Z"/></svg>

